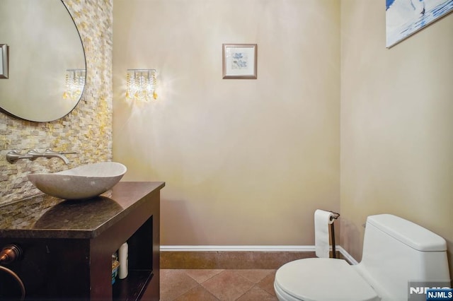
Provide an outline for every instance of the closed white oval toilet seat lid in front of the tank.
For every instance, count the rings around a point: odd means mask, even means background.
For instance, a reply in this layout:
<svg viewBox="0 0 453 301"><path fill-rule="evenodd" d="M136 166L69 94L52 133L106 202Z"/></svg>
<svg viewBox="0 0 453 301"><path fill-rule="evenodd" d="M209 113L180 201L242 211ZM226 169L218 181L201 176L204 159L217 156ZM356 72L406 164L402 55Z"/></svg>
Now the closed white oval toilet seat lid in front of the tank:
<svg viewBox="0 0 453 301"><path fill-rule="evenodd" d="M377 301L373 288L343 259L291 261L275 274L275 285L306 301Z"/></svg>

